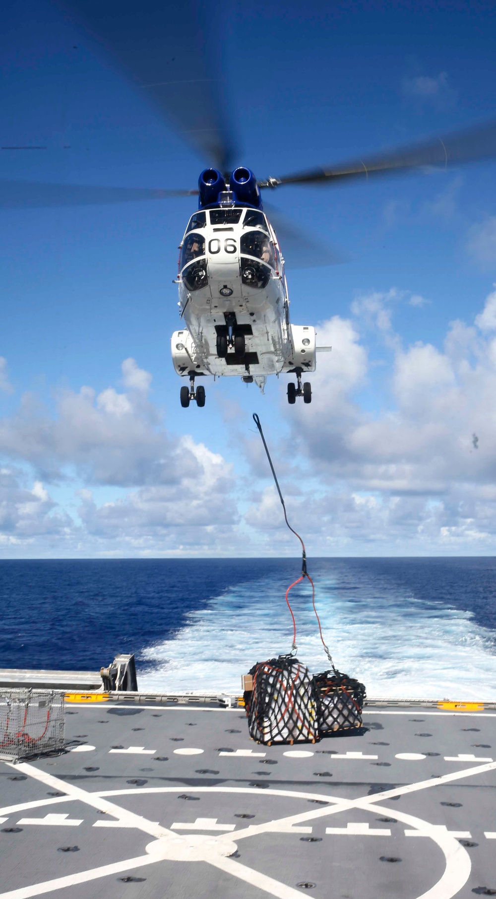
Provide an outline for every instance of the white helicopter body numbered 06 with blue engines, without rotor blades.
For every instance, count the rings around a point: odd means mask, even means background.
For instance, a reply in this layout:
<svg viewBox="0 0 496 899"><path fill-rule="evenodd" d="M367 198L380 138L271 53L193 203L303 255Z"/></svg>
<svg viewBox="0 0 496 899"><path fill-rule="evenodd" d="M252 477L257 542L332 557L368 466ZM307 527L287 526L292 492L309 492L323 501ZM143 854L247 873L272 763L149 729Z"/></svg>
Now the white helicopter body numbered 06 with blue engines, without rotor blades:
<svg viewBox="0 0 496 899"><path fill-rule="evenodd" d="M236 376L263 391L267 376L281 372L297 376L288 402L311 402L301 378L315 369L315 330L290 324L284 259L249 169L235 169L228 185L215 169L200 174L199 210L182 238L176 282L184 326L173 333L173 364L190 379L183 406L205 405L195 378Z"/></svg>

